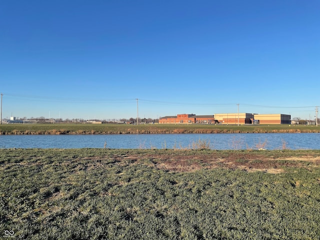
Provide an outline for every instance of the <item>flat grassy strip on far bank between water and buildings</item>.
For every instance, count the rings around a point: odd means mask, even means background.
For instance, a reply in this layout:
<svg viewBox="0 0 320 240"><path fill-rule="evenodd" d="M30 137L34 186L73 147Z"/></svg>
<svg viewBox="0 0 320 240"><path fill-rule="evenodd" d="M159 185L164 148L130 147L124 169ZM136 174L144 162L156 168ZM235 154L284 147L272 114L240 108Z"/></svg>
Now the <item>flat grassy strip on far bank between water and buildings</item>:
<svg viewBox="0 0 320 240"><path fill-rule="evenodd" d="M214 124L1 124L0 134L131 134L131 133L267 133L320 132L314 125Z"/></svg>

